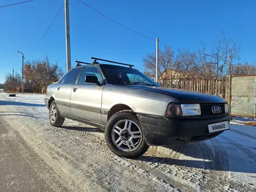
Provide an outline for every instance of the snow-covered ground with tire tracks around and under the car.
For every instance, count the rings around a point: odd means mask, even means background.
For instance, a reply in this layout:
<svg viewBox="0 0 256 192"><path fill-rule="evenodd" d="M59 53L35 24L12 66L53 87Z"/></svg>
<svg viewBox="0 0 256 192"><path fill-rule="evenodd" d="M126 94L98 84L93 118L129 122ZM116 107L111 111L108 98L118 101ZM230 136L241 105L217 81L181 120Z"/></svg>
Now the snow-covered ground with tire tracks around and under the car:
<svg viewBox="0 0 256 192"><path fill-rule="evenodd" d="M66 189L256 191L256 127L230 124L230 130L211 140L150 147L131 160L108 149L104 130L67 119L63 127L52 127L44 97L0 93L0 123L20 134Z"/></svg>

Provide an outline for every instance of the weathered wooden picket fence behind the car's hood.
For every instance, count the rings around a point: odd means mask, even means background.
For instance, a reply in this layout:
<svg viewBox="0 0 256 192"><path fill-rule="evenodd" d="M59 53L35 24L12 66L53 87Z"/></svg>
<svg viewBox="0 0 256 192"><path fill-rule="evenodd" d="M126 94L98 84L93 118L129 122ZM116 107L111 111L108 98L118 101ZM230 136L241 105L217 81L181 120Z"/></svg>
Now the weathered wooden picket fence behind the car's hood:
<svg viewBox="0 0 256 192"><path fill-rule="evenodd" d="M218 95L225 98L226 81L219 80L159 80L162 87L177 88L182 90L197 91L206 94Z"/></svg>

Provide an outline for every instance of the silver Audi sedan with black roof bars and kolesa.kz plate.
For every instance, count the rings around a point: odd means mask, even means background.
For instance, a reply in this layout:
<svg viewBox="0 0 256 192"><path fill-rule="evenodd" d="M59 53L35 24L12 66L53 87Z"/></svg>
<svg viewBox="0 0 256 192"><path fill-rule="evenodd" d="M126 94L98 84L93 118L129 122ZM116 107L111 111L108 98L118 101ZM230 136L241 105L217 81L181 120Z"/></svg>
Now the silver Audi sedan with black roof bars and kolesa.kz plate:
<svg viewBox="0 0 256 192"><path fill-rule="evenodd" d="M47 88L49 122L65 118L105 129L105 140L120 157L137 158L150 145L183 145L208 140L229 129L227 102L215 95L163 88L131 65L93 58ZM120 66L126 65L126 66Z"/></svg>

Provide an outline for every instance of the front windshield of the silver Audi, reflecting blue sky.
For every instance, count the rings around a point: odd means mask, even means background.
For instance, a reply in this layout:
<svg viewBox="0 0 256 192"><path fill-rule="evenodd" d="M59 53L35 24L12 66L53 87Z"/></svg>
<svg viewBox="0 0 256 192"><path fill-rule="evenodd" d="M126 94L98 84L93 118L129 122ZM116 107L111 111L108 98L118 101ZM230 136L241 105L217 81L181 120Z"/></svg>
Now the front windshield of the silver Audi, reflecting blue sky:
<svg viewBox="0 0 256 192"><path fill-rule="evenodd" d="M106 79L111 84L126 84L126 85L144 85L158 86L159 84L151 80L145 74L136 69L115 65L100 65Z"/></svg>

